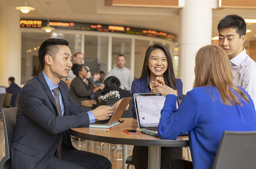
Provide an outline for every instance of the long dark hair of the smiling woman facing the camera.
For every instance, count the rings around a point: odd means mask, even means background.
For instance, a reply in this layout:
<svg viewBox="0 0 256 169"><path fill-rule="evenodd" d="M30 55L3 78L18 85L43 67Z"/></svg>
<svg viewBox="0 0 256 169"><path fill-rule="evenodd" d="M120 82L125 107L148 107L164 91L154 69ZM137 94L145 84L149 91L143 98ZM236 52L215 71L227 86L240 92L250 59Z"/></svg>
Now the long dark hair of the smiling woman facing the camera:
<svg viewBox="0 0 256 169"><path fill-rule="evenodd" d="M145 80L148 85L148 81L150 78L150 69L148 68L148 59L150 57L151 52L156 49L161 49L167 57L168 66L167 66L167 70L164 72L165 85L171 87L172 89L175 89L176 78L175 78L175 74L174 74L174 68L173 68L173 64L172 64L171 54L170 54L169 50L167 49L167 47L165 47L163 44L154 44L154 45L151 45L148 47L148 50L145 54L145 59L144 59L140 79L145 77L146 78Z"/></svg>

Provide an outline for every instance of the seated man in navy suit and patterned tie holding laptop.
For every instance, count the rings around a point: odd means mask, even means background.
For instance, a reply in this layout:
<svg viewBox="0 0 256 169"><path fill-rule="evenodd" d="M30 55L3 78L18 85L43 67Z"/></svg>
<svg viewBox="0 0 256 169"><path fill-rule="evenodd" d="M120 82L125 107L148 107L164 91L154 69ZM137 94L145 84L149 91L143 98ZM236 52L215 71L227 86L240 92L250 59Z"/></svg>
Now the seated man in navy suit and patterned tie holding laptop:
<svg viewBox="0 0 256 169"><path fill-rule="evenodd" d="M72 67L66 40L48 39L41 44L38 54L43 71L20 92L11 144L12 169L111 169L104 156L75 149L68 130L89 127L95 119L110 118L119 103L90 111L81 109L70 97L67 85L61 80ZM59 89L58 103L54 99L55 88ZM60 153L58 147L62 147Z"/></svg>

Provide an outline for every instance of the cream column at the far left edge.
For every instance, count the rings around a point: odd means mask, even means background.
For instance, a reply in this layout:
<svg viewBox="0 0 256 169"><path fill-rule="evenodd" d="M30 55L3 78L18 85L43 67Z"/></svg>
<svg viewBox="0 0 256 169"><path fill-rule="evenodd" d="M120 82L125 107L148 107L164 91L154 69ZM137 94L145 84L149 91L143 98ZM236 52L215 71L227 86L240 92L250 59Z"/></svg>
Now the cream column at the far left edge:
<svg viewBox="0 0 256 169"><path fill-rule="evenodd" d="M10 76L20 85L20 11L15 6L0 6L0 23L0 86L9 87Z"/></svg>

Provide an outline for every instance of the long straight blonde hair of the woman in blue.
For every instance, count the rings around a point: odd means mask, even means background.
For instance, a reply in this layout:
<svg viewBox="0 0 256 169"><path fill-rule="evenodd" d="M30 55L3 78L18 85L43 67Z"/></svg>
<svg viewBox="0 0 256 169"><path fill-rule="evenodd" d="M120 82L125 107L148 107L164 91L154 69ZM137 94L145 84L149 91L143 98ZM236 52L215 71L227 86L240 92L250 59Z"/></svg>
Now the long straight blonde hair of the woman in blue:
<svg viewBox="0 0 256 169"><path fill-rule="evenodd" d="M248 101L247 95L233 84L228 54L219 46L204 46L195 57L195 87L216 86L223 104L232 106ZM233 92L238 94L238 97Z"/></svg>

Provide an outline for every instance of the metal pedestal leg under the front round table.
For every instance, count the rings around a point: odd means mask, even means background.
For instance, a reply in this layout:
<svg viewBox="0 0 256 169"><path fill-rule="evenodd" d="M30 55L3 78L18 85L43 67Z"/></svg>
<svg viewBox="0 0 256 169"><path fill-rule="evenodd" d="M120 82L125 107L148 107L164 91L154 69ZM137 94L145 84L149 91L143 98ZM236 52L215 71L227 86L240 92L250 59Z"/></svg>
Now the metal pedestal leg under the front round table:
<svg viewBox="0 0 256 169"><path fill-rule="evenodd" d="M161 147L149 146L148 148L148 169L161 168Z"/></svg>

